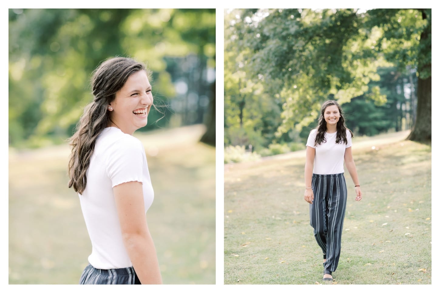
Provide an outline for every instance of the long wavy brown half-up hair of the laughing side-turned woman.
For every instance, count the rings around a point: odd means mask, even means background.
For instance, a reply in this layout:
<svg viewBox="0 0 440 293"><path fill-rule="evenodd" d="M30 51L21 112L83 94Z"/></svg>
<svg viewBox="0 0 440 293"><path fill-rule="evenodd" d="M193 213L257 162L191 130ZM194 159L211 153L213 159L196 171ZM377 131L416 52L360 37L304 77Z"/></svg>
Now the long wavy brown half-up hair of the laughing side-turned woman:
<svg viewBox="0 0 440 293"><path fill-rule="evenodd" d="M147 71L145 65L132 58L116 57L101 63L92 76L93 101L84 109L75 134L70 137L72 153L69 161L69 188L82 194L87 184L87 170L90 164L96 139L101 131L110 126L109 104L114 101L128 77L140 70Z"/></svg>

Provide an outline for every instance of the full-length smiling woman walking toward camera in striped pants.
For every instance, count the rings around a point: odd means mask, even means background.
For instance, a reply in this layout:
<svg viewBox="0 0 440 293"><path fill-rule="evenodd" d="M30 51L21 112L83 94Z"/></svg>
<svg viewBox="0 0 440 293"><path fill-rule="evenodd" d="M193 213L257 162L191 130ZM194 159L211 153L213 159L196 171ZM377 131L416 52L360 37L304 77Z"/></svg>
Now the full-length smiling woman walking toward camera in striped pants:
<svg viewBox="0 0 440 293"><path fill-rule="evenodd" d="M356 190L356 201L362 199L352 156L353 133L345 126L341 106L326 101L321 107L318 126L307 140L304 199L310 203L310 224L316 242L324 254L324 281L332 281L341 253L347 186L344 162Z"/></svg>

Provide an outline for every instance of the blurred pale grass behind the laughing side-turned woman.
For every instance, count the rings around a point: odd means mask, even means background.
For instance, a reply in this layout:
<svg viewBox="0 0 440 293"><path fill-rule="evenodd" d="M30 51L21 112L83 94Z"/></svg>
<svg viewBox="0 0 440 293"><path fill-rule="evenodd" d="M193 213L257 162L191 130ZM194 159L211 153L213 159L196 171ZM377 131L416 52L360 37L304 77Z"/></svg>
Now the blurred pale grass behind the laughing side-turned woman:
<svg viewBox="0 0 440 293"><path fill-rule="evenodd" d="M164 284L215 283L215 148L203 127L135 136L146 148L154 202L147 223ZM91 252L67 145L9 151L9 283L77 284Z"/></svg>

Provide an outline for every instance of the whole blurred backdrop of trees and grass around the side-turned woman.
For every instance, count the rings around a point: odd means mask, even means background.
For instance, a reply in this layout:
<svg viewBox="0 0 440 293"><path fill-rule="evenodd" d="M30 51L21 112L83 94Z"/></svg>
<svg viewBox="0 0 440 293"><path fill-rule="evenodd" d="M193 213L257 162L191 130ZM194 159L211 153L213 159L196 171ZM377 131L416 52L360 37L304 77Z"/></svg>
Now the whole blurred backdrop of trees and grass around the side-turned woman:
<svg viewBox="0 0 440 293"><path fill-rule="evenodd" d="M77 284L91 243L67 187L90 78L114 56L147 63L147 223L165 284L215 283L215 9L9 9L10 284ZM26 179L24 179L26 178Z"/></svg>

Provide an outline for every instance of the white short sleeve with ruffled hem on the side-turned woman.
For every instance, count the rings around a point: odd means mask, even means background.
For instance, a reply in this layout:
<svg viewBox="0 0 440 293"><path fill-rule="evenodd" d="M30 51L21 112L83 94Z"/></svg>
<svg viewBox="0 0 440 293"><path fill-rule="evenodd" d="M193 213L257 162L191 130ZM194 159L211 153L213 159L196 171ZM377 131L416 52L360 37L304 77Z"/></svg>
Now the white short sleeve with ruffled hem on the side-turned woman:
<svg viewBox="0 0 440 293"><path fill-rule="evenodd" d="M106 171L112 188L130 181L142 182L143 146L135 137L123 137L112 146Z"/></svg>

